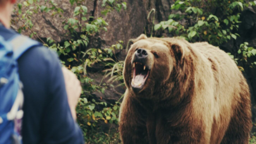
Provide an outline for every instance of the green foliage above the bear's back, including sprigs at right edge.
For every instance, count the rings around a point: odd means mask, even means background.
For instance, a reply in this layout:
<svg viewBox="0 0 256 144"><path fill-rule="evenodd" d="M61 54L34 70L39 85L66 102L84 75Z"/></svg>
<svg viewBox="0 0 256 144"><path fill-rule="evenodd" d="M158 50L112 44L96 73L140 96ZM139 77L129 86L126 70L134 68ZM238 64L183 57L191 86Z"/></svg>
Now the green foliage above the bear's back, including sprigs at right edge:
<svg viewBox="0 0 256 144"><path fill-rule="evenodd" d="M178 0L171 9L181 13L169 15L169 20L155 24L154 30L156 34L166 32L190 42L207 41L209 44L219 46L240 37L237 33L241 23L240 15L245 8L255 4L256 1L247 3L243 0ZM255 54L256 49L248 47L248 42L241 44L240 49L234 54L229 53L241 71L244 71L243 66L255 66L256 62L252 60Z"/></svg>

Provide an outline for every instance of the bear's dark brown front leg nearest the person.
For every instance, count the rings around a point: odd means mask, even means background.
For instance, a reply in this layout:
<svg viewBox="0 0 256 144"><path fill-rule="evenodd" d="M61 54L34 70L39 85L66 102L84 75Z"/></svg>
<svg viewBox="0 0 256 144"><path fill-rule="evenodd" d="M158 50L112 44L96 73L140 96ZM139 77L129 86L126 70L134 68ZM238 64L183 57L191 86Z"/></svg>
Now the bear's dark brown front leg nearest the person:
<svg viewBox="0 0 256 144"><path fill-rule="evenodd" d="M121 104L119 131L123 144L149 144L143 107L128 95Z"/></svg>

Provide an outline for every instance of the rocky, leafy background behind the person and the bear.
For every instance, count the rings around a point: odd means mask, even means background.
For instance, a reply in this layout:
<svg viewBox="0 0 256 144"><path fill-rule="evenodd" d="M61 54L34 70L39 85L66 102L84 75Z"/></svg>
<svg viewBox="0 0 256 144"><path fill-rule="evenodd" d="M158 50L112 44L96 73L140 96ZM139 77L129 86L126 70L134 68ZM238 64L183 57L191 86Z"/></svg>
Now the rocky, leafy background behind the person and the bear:
<svg viewBox="0 0 256 144"><path fill-rule="evenodd" d="M256 143L256 1L20 0L11 28L58 53L83 92L76 112L87 143L121 143L119 105L131 39L184 37L224 50L247 78Z"/></svg>

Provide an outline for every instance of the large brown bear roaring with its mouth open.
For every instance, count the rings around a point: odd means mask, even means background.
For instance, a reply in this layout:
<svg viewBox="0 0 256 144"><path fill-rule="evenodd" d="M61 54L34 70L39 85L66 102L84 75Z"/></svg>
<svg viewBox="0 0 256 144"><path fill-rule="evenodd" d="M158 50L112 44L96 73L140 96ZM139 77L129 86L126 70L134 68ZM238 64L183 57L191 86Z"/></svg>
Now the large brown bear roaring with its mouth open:
<svg viewBox="0 0 256 144"><path fill-rule="evenodd" d="M140 35L128 51L123 76L124 144L248 143L247 81L218 47Z"/></svg>

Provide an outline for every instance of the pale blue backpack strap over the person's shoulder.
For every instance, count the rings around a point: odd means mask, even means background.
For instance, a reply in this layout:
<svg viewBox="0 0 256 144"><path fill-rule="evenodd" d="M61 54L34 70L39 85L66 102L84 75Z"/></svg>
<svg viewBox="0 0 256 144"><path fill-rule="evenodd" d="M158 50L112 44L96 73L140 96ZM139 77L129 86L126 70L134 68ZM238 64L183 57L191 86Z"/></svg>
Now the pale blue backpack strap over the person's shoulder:
<svg viewBox="0 0 256 144"><path fill-rule="evenodd" d="M13 52L15 59L18 59L24 52L35 46L42 46L40 42L32 40L24 35L18 35L9 40L13 46Z"/></svg>

